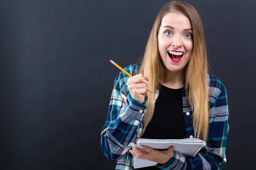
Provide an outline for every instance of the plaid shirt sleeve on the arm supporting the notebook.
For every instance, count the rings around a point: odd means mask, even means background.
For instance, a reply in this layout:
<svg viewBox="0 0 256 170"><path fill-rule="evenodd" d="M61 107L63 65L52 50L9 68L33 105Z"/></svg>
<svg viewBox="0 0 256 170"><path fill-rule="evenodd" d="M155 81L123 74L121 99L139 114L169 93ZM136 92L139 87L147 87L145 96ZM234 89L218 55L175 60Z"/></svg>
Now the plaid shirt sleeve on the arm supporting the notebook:
<svg viewBox="0 0 256 170"><path fill-rule="evenodd" d="M162 170L221 170L226 164L226 140L229 130L227 91L218 80L215 93L209 100L209 133L207 147L204 147L195 157L183 156L174 152L173 158L159 166ZM214 101L214 102L213 102Z"/></svg>

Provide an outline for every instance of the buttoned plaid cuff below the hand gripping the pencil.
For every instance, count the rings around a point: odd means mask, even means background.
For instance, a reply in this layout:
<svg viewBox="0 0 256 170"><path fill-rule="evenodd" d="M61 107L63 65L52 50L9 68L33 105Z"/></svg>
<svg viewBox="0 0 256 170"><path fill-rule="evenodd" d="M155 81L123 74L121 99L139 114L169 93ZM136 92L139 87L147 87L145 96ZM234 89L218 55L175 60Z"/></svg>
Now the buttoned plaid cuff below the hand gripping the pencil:
<svg viewBox="0 0 256 170"><path fill-rule="evenodd" d="M125 114L128 117L133 117L137 120L142 120L145 111L147 110L147 106L145 105L148 97L145 97L145 102L139 103L131 97L131 94L128 94L127 100L125 102Z"/></svg>

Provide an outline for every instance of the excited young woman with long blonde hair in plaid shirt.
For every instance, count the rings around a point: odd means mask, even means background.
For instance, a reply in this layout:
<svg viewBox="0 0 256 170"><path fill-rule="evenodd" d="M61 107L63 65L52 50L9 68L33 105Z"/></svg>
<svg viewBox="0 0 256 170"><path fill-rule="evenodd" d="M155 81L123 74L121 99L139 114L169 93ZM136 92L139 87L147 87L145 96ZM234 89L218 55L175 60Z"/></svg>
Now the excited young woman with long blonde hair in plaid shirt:
<svg viewBox="0 0 256 170"><path fill-rule="evenodd" d="M117 170L133 169L133 158L155 161L162 170L219 170L226 164L227 91L208 74L201 19L191 5L169 2L158 13L141 65L125 68L115 81L102 152ZM148 93L151 89L153 94ZM154 150L138 139L198 138L207 146L195 157Z"/></svg>

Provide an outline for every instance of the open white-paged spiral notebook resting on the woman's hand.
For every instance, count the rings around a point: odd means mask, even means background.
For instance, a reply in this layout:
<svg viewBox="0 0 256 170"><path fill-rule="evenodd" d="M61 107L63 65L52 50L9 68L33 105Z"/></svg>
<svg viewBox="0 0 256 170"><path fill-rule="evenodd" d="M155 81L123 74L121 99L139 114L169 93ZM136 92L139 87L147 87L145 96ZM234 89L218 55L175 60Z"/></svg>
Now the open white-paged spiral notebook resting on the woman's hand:
<svg viewBox="0 0 256 170"><path fill-rule="evenodd" d="M174 146L174 151L181 153L184 156L195 157L198 151L206 145L206 143L200 139L187 138L187 139L139 139L137 147L145 145L154 149L168 149L170 146ZM148 161L145 159L137 159L134 157L134 168L150 167L157 164L154 161Z"/></svg>

